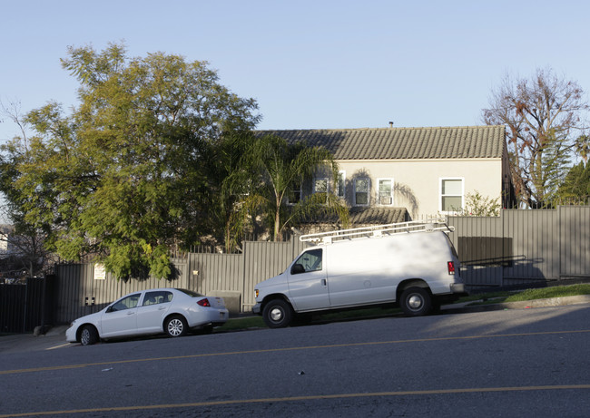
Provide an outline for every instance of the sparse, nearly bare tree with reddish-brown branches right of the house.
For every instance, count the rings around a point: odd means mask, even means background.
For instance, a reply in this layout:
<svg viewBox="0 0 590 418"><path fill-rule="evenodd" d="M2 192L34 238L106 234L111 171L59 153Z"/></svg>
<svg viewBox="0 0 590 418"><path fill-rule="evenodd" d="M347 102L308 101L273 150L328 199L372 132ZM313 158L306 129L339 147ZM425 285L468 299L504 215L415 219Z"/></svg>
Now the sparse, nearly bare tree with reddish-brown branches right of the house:
<svg viewBox="0 0 590 418"><path fill-rule="evenodd" d="M576 132L588 110L584 91L551 70L537 70L530 79L506 76L483 110L487 124L506 125L512 179L521 204L550 204L573 151Z"/></svg>

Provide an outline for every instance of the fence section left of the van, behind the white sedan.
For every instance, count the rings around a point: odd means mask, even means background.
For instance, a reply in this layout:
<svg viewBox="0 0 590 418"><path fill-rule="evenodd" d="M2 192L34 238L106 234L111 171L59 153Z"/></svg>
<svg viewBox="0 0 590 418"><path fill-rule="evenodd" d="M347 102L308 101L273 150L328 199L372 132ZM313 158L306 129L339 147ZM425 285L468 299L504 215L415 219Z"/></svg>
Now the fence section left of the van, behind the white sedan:
<svg viewBox="0 0 590 418"><path fill-rule="evenodd" d="M106 274L94 279L93 264L60 265L56 320L70 322L78 316L98 312L117 298L152 287L184 287L212 295L238 292L242 309L255 303L254 286L282 272L306 245L299 239L288 242L245 242L244 254L191 253L174 259L179 277L172 281L150 277L146 280L117 280Z"/></svg>

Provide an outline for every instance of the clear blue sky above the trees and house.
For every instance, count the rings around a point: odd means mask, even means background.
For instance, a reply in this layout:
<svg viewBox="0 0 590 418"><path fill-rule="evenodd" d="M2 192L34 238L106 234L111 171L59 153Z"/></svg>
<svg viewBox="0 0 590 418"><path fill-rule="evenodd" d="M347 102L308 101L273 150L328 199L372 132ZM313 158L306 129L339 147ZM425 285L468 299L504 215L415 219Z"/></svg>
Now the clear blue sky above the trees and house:
<svg viewBox="0 0 590 418"><path fill-rule="evenodd" d="M476 125L506 72L551 66L590 92L589 16L583 0L0 0L0 100L67 109L67 46L123 40L208 61L257 100L259 129ZM0 123L0 141L17 132Z"/></svg>

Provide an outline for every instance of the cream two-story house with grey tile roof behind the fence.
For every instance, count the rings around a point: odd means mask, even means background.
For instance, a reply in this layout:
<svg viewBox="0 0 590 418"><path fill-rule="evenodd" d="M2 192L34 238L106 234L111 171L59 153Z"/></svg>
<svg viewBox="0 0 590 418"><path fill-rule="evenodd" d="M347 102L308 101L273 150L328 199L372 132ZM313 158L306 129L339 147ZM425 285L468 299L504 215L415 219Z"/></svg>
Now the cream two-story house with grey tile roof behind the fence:
<svg viewBox="0 0 590 418"><path fill-rule="evenodd" d="M476 192L512 207L501 125L258 133L331 151L339 163L338 182L319 171L298 191L334 191L346 201L355 226L456 214L465 209L467 194Z"/></svg>

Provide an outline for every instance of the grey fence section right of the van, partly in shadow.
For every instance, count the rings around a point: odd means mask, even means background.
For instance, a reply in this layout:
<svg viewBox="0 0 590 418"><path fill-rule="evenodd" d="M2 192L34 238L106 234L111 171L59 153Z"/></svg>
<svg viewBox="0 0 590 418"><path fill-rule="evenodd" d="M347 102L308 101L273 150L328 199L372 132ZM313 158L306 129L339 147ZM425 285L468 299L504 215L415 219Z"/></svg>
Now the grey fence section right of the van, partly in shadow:
<svg viewBox="0 0 590 418"><path fill-rule="evenodd" d="M590 277L588 206L508 209L498 218L451 217L449 224L470 287Z"/></svg>

